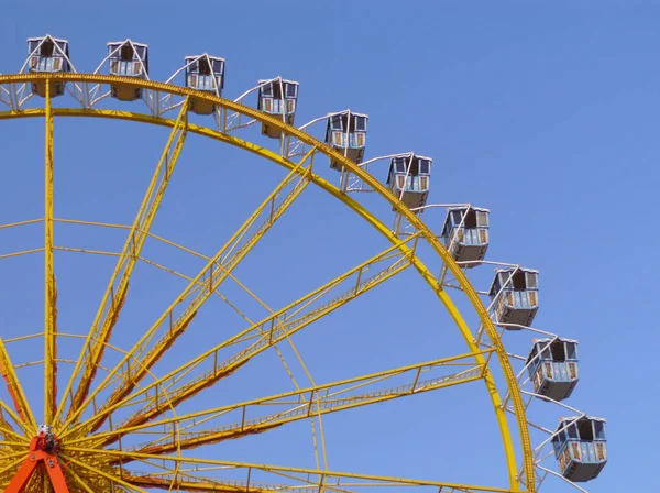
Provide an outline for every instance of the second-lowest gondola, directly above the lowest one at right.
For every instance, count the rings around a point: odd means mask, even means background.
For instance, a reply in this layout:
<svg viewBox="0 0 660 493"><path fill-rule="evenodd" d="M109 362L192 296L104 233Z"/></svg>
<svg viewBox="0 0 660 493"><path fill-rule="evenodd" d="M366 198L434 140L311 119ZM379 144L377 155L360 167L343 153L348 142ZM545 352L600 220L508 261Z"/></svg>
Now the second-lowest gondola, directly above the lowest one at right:
<svg viewBox="0 0 660 493"><path fill-rule="evenodd" d="M580 377L578 341L561 338L536 340L527 357L527 372L535 393L554 401L569 398Z"/></svg>

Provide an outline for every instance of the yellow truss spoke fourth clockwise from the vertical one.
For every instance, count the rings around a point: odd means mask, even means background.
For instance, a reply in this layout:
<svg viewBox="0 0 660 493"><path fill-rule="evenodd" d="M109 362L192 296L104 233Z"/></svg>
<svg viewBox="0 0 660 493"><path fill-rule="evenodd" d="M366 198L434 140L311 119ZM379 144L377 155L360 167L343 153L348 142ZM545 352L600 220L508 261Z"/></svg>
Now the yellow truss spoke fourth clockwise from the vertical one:
<svg viewBox="0 0 660 493"><path fill-rule="evenodd" d="M152 388L155 390L155 396L151 398L150 404L144 406L138 415L142 423L153 419L162 414L162 412L168 409L170 405L176 405L196 395L204 388L218 382L220 379L233 373L238 368L245 364L256 354L265 351L270 347L304 329L319 318L340 308L407 269L410 265L414 251L408 251L406 255L396 254L397 256L395 258L393 258L393 253L396 252L402 244L415 242L416 239L417 235L411 235L400 240L395 245L389 246L372 259L351 269L329 283L326 283L323 286L315 289L305 297L275 311L265 319L253 324L249 328L188 361L167 375L145 385L140 392L125 397L123 401L119 401L114 404L106 403L95 416L87 421L77 425L73 429L64 431L62 436L67 437L69 434L76 431L80 432L81 429L87 431L99 429L100 424L102 424L102 418L106 415L124 406L130 401L147 393ZM371 274L370 271L374 270L374 266L380 262L387 262L387 266L377 271L375 274ZM344 284L350 286L348 291L318 306L327 299L329 294L332 294L338 287L343 287ZM260 338L239 353L227 358L224 361L219 361L218 354L220 350L237 343L239 340L243 340L245 336L251 333L257 333L260 335ZM196 368L205 362L212 364L210 370L194 380L185 381L173 391L167 391L172 385L182 380L182 374L187 373L190 368Z"/></svg>

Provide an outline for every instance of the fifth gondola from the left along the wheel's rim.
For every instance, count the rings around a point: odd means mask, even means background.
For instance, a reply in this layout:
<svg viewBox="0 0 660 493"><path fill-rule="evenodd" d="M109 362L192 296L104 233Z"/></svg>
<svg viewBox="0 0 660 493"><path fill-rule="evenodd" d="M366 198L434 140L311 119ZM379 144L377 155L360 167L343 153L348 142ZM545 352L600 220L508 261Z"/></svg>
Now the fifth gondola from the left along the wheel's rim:
<svg viewBox="0 0 660 493"><path fill-rule="evenodd" d="M369 117L353 111L340 111L328 116L326 143L353 163L364 160L366 146L366 125ZM341 171L343 166L330 158L330 167Z"/></svg>

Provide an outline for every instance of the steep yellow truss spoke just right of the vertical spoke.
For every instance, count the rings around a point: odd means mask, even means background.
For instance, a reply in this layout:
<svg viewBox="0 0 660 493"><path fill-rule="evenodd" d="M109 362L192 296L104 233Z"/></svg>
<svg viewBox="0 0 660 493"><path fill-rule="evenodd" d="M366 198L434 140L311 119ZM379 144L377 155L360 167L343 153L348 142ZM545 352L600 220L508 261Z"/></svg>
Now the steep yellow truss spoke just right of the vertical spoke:
<svg viewBox="0 0 660 493"><path fill-rule="evenodd" d="M106 342L110 340L112 329L123 306L129 288L129 281L135 264L138 263L142 246L147 238L146 231L151 229L154 218L156 217L156 212L178 162L187 134L188 99L184 101L176 123L169 133L165 149L156 165L156 171L154 172L144 198L142 199L135 221L129 231L127 242L117 262L110 282L108 283L108 287L101 299L88 338L80 352L79 362L76 365L63 395L62 404L59 406L61 409L64 409L65 402L69 392L73 390L74 382L81 373L77 390L69 403L69 414L79 407L89 393L89 386L91 385L97 368L103 357Z"/></svg>

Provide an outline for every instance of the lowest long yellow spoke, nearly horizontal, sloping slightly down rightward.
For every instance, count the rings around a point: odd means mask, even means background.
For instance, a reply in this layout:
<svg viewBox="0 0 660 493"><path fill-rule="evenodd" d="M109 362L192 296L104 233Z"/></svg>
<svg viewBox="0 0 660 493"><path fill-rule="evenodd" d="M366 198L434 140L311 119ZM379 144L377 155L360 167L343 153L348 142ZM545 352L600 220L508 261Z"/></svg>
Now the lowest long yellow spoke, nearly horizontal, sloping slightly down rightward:
<svg viewBox="0 0 660 493"><path fill-rule="evenodd" d="M201 458L184 458L177 456L153 456L148 453L139 453L139 452L125 452L120 450L109 450L109 449L87 449L80 447L68 447L67 451L69 452L79 452L82 454L95 456L108 456L114 457L119 459L131 458L134 460L160 460L164 462L172 463L190 463L190 464L208 464L208 465L220 465L222 469L218 469L218 471L231 471L232 476L235 478L235 472L244 472L245 476L249 476L253 471L258 471L264 474L272 474L276 478L280 478L282 474L287 474L288 478L294 479L296 475L299 478L299 481L306 485L309 485L310 478L316 478L316 484L323 489L326 485L338 486L338 487L356 487L356 486L429 486L438 491L438 489L442 489L442 492L490 492L490 493L510 493L513 490L505 487L491 487L491 486L477 486L477 485L468 485L468 484L454 484L454 483L444 483L437 481L424 481L424 480L411 480L405 478L392 478L392 476L381 476L373 474L358 474L351 472L338 472L338 471L323 471L318 469L305 469L305 468L286 468L280 465L270 465L270 464L255 464L248 462L231 462L231 461L220 461L212 459L201 459ZM120 483L121 484L121 483ZM275 490L273 487L272 490Z"/></svg>

